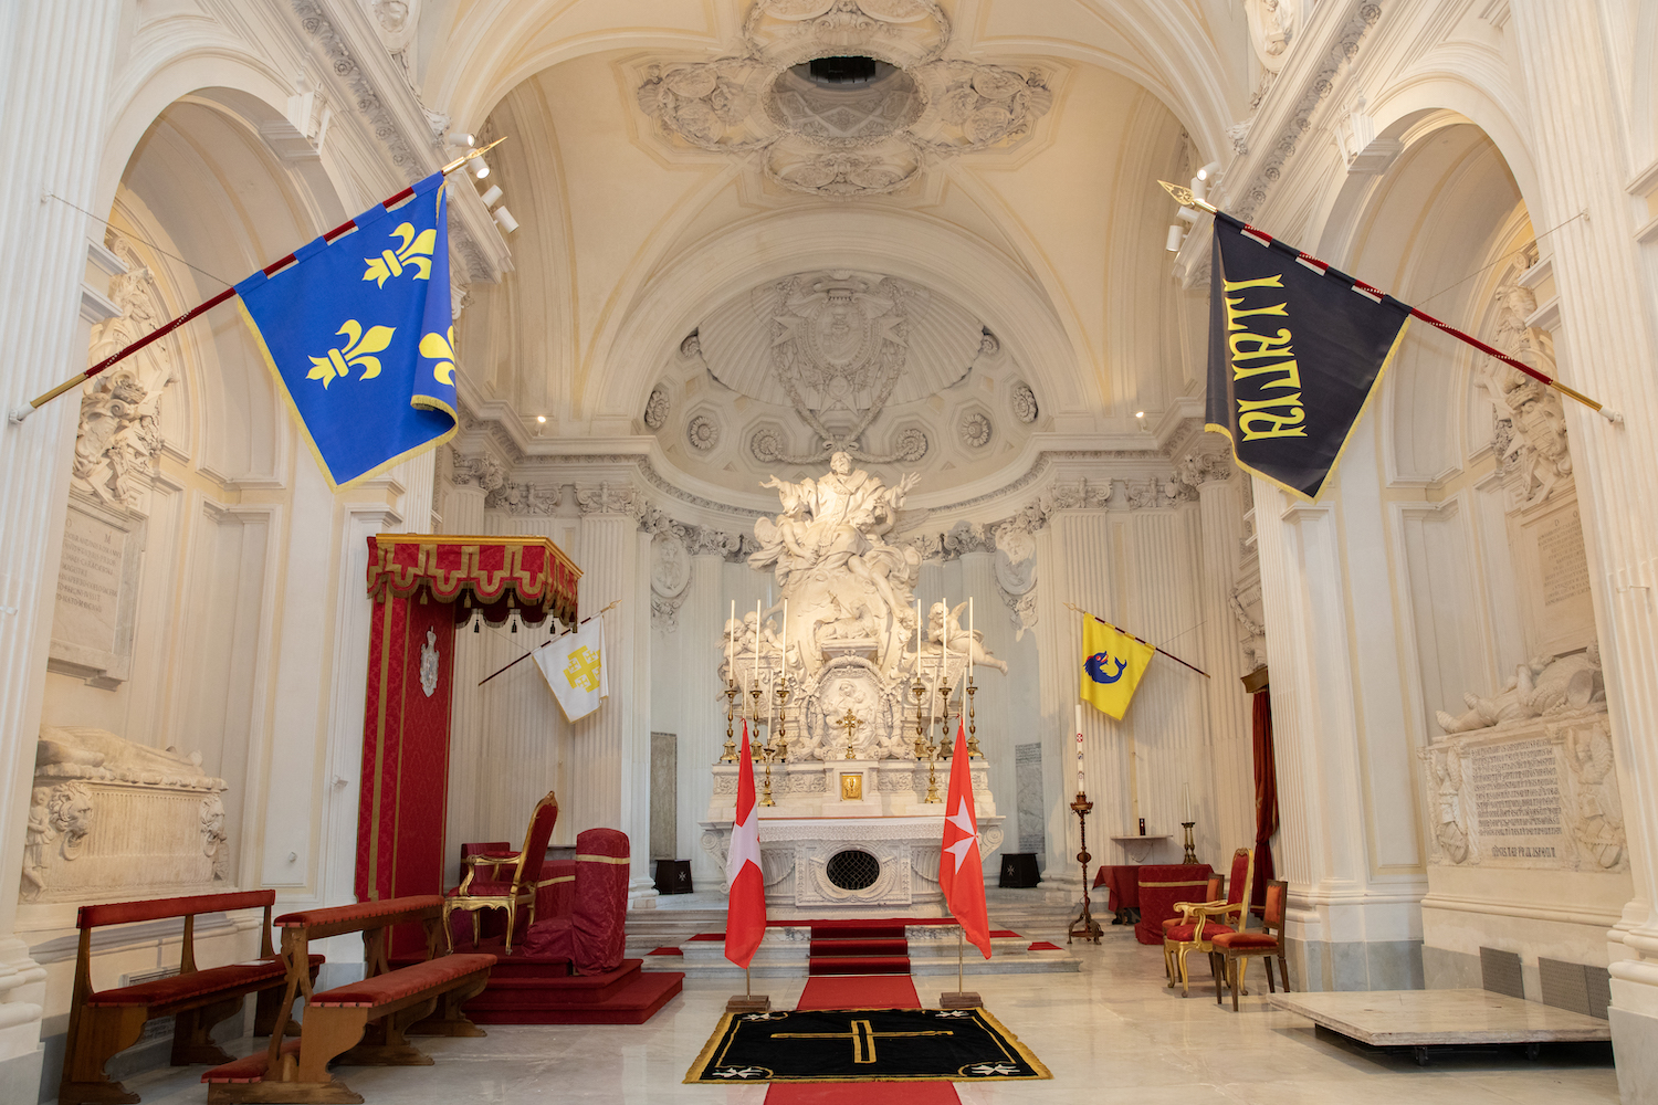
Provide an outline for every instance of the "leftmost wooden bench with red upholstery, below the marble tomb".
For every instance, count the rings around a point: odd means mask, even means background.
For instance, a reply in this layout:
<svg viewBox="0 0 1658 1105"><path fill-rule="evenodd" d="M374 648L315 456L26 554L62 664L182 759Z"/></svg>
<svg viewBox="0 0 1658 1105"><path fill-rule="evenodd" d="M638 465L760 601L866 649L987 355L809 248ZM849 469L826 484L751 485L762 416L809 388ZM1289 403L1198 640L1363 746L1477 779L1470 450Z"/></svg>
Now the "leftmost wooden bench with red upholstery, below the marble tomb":
<svg viewBox="0 0 1658 1105"><path fill-rule="evenodd" d="M58 1105L136 1102L104 1074L104 1064L116 1052L138 1042L144 1024L159 1017L176 1017L172 1029L172 1065L221 1064L230 1057L212 1042L212 1027L235 1016L247 994L259 994L254 1021L255 1035L269 1034L282 1009L282 986L288 964L270 948L270 906L274 890L250 890L230 895L196 895L191 898L158 898L154 901L118 901L81 906L75 926L81 929L75 959L75 992L70 999L70 1032L63 1049L63 1080ZM196 966L196 918L202 913L264 908L265 923L259 959L224 967ZM95 928L184 918L184 941L179 972L133 986L95 991L91 979L91 938ZM322 956L307 959L307 974L315 976ZM292 1001L292 999L290 999Z"/></svg>

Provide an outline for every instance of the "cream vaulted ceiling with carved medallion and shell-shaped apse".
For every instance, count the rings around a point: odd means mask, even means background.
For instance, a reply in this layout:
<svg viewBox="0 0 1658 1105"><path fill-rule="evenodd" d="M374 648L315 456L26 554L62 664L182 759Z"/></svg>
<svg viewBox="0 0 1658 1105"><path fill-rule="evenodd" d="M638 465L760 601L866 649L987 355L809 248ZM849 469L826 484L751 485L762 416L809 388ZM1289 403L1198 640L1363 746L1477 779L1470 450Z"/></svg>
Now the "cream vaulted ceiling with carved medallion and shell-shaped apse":
<svg viewBox="0 0 1658 1105"><path fill-rule="evenodd" d="M1199 389L1156 182L1248 111L1235 0L426 0L419 33L423 99L511 139L463 398L532 451L648 436L738 489L834 441L945 487Z"/></svg>

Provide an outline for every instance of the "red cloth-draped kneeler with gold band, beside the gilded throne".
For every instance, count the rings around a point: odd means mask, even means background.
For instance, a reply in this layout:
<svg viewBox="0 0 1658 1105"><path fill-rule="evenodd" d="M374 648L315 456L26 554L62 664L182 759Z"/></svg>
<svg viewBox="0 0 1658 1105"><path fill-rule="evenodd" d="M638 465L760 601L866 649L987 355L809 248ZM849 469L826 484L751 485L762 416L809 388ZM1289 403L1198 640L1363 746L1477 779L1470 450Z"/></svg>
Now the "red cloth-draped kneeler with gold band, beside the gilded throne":
<svg viewBox="0 0 1658 1105"><path fill-rule="evenodd" d="M569 959L577 974L604 974L622 966L627 946L627 833L589 828L575 838L575 885L570 911L529 926L524 951Z"/></svg>

